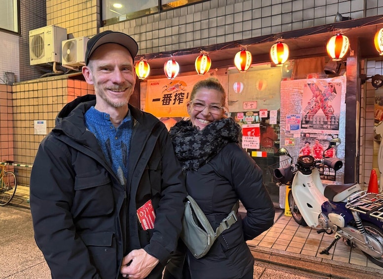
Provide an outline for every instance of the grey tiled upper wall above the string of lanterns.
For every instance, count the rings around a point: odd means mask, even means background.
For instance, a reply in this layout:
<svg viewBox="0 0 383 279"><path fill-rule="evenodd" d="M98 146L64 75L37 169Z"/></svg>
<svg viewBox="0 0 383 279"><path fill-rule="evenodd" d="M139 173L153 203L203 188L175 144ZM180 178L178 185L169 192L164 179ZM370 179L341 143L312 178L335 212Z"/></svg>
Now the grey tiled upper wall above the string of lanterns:
<svg viewBox="0 0 383 279"><path fill-rule="evenodd" d="M127 33L139 42L139 54L176 51L333 23L343 16L362 18L383 11L383 1L362 0L210 0L100 31ZM191 40L193 38L193 40Z"/></svg>

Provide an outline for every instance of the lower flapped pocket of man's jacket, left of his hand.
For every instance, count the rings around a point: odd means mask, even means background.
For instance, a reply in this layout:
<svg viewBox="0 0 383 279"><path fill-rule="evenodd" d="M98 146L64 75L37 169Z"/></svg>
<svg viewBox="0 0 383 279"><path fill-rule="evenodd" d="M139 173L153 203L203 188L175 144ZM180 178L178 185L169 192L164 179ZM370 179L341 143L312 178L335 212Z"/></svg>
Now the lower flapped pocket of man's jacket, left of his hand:
<svg viewBox="0 0 383 279"><path fill-rule="evenodd" d="M117 249L114 233L86 233L80 238L88 248L90 260L101 278L115 278L117 271Z"/></svg>

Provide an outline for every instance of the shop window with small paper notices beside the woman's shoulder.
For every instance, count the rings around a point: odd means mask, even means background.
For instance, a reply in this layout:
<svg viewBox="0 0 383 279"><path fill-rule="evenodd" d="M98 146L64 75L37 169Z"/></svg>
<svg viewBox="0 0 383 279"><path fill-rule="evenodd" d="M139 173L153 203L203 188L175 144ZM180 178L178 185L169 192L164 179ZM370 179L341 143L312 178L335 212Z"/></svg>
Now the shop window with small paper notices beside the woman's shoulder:
<svg viewBox="0 0 383 279"><path fill-rule="evenodd" d="M282 67L270 63L252 65L245 73L228 70L230 116L242 127L241 145L263 172L263 181L275 203L279 188L273 182L270 165L279 162L280 81L291 78L294 61Z"/></svg>

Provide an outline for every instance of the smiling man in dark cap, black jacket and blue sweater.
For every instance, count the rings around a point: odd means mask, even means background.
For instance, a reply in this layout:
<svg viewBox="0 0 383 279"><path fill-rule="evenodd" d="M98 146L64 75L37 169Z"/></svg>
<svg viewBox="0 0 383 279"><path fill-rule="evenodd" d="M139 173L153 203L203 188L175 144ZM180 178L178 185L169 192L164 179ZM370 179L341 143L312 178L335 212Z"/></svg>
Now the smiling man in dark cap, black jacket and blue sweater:
<svg viewBox="0 0 383 279"><path fill-rule="evenodd" d="M82 73L96 95L67 104L31 173L35 240L55 279L160 279L186 197L165 125L128 104L135 40L88 41Z"/></svg>

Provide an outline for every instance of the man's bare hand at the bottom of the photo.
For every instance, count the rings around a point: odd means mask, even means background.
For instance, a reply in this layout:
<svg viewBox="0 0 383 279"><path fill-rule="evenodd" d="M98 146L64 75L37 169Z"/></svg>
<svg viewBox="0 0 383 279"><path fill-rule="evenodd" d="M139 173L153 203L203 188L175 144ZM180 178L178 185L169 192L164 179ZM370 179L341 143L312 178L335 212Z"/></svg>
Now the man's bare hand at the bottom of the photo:
<svg viewBox="0 0 383 279"><path fill-rule="evenodd" d="M122 259L120 272L125 278L144 279L158 263L159 260L144 249L132 250Z"/></svg>

